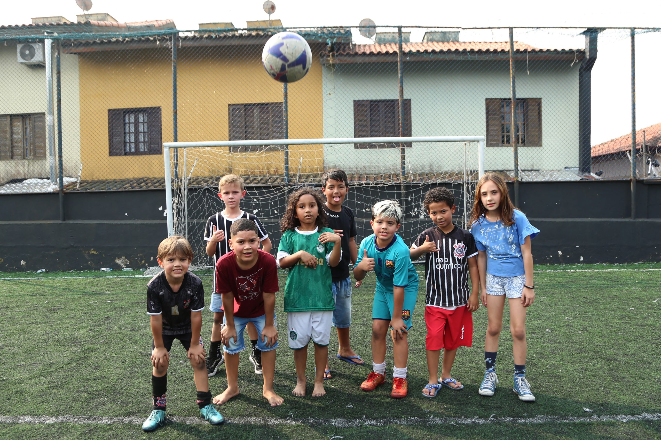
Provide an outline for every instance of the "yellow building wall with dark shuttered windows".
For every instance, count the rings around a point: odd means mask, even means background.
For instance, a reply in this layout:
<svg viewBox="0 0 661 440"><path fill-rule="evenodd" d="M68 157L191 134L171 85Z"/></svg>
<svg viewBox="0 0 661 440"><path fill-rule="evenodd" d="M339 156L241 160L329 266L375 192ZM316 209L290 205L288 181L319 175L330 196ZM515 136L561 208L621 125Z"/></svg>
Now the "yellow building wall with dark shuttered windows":
<svg viewBox="0 0 661 440"><path fill-rule="evenodd" d="M178 50L179 141L227 140L229 104L282 102L282 83L264 71L261 50L262 46ZM82 178L162 177L163 155L108 155L108 109L160 106L163 142L173 141L171 52L167 48L91 52L80 55L79 59ZM321 90L321 65L313 57L305 78L288 86L290 138L323 137ZM179 166L183 169L182 150ZM193 169L193 175L201 177L227 172L243 176L278 175L284 172L284 153L239 154L229 153L223 147L186 149L186 168L186 174ZM290 147L290 172L322 170L322 145Z"/></svg>

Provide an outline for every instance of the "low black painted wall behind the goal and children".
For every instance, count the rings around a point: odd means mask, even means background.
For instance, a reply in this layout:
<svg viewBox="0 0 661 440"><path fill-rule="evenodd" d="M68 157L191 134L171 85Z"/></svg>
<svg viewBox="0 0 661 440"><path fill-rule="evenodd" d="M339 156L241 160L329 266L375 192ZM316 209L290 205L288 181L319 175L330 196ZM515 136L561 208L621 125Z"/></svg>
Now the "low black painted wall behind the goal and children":
<svg viewBox="0 0 661 440"><path fill-rule="evenodd" d="M661 182L660 182L661 183ZM429 186L409 186L404 202L405 220L400 235L410 242L431 223L420 218L420 203ZM458 186L448 188L459 192ZM256 189L247 188L249 194ZM392 188L352 188L347 205L358 221L358 239L371 233L369 207ZM661 254L661 184L637 183L637 220L631 220L631 184L626 181L522 182L521 209L541 230L533 240L537 263L592 263L658 261ZM510 193L513 188L510 188ZM214 191L191 190L190 196L207 207L191 219L190 231L204 227L206 217L222 209ZM0 196L0 270L98 270L155 266L159 242L167 236L165 190L126 192L71 192L65 194L67 221L59 221L58 194L12 194ZM249 211L278 210L247 199ZM462 207L457 215L462 215ZM272 214L274 215L274 214ZM277 246L278 218L263 219ZM192 234L196 247L201 234ZM124 260L122 260L124 259Z"/></svg>

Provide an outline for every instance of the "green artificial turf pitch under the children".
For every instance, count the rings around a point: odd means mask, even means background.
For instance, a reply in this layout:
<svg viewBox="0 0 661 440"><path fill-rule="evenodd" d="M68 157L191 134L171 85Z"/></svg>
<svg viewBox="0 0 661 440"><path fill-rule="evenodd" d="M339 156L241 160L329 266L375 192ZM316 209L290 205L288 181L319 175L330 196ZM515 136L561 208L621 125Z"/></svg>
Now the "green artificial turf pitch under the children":
<svg viewBox="0 0 661 440"><path fill-rule="evenodd" d="M520 402L511 389L507 307L495 396L477 394L484 373L484 307L473 315L473 347L459 349L453 368L465 389L442 388L434 399L421 395L428 377L422 276L409 332L408 397L389 397L391 342L387 385L362 392L360 383L371 367L371 275L354 289L352 303L352 344L366 366L332 357L326 396L309 395L312 349L308 396L291 394L296 377L284 335L281 291L274 386L284 404L266 404L262 379L254 375L246 351L239 366L241 394L219 407L228 423L198 423L192 369L175 344L168 371L167 412L173 422L155 433L143 433L136 424L151 411L148 278L105 277L132 275L126 272L0 274L0 438L661 438L661 264L535 269L537 297L527 316L527 377L537 397L533 404ZM209 295L210 272L199 274ZM281 289L284 280L282 274ZM205 342L211 323L212 313L205 309ZM336 351L337 338L331 336L329 353ZM212 394L226 384L221 367L210 378Z"/></svg>

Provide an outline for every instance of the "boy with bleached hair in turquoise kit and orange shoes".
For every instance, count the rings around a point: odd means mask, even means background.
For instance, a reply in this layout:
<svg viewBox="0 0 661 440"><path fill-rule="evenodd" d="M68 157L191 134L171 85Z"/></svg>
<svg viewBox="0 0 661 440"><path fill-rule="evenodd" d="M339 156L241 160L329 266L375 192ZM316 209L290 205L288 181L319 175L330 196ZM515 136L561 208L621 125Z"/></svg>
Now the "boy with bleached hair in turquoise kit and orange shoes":
<svg viewBox="0 0 661 440"><path fill-rule="evenodd" d="M393 338L393 390L391 397L407 396L407 332L418 296L418 273L408 250L399 235L402 209L393 200L383 200L372 209L371 226L374 233L360 242L354 266L356 281L367 272L376 274L376 289L372 305L372 369L360 388L374 390L385 383L385 335L391 329Z"/></svg>

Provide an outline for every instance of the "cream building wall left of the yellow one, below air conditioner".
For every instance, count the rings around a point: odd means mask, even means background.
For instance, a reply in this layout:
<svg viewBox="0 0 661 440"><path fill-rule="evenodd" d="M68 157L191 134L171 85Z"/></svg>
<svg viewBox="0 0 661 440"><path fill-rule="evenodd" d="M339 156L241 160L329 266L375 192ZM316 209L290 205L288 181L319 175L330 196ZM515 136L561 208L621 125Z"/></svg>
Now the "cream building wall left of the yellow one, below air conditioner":
<svg viewBox="0 0 661 440"><path fill-rule="evenodd" d="M46 68L17 62L15 42L0 44L0 114L46 113ZM55 63L53 93L55 96ZM64 176L77 176L80 166L80 107L78 93L78 57L61 56L62 158ZM56 102L53 103L57 111ZM55 151L57 123L54 120ZM48 130L46 131L48 133ZM57 153L56 153L57 154ZM56 160L57 163L57 160ZM50 176L50 151L46 136L46 159L0 161L0 183L15 178ZM57 176L57 173L56 173Z"/></svg>

